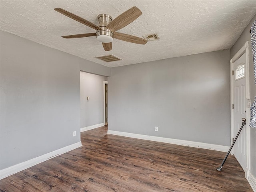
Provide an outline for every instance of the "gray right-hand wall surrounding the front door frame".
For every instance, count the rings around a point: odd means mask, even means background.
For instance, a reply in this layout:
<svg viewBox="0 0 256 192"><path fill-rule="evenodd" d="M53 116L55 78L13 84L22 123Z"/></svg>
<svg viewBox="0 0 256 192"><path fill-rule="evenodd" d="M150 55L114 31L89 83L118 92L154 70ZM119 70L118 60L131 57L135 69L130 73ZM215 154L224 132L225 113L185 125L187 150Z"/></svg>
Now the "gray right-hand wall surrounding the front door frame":
<svg viewBox="0 0 256 192"><path fill-rule="evenodd" d="M252 46L251 46L251 34L250 28L252 23L256 20L256 15L248 26L244 29L244 32L241 34L240 38L236 41L234 46L231 48L231 58L240 50L246 41L249 41L249 64L250 64L250 99L251 102L254 101L256 96L256 86L254 84L254 73L253 73L253 60L252 60ZM250 128L250 148L251 148L251 172L256 177L256 129Z"/></svg>

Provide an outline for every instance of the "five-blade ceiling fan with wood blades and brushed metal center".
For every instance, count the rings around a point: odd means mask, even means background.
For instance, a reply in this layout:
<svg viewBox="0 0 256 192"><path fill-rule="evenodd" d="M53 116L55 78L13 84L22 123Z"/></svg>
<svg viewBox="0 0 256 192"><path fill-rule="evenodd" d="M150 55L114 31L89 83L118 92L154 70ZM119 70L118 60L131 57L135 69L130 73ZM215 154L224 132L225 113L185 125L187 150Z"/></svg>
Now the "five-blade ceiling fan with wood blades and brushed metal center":
<svg viewBox="0 0 256 192"><path fill-rule="evenodd" d="M146 42L148 42L143 38L116 32L117 30L124 28L126 25L136 20L142 14L142 12L136 6L123 12L114 20L108 14L98 15L98 22L99 22L98 26L62 8L55 8L54 10L96 30L95 33L67 35L67 36L62 36L63 38L81 38L81 37L96 36L97 40L102 42L102 45L105 51L112 50L112 41L114 38L122 41L126 41L126 42L136 43L136 44L146 44Z"/></svg>

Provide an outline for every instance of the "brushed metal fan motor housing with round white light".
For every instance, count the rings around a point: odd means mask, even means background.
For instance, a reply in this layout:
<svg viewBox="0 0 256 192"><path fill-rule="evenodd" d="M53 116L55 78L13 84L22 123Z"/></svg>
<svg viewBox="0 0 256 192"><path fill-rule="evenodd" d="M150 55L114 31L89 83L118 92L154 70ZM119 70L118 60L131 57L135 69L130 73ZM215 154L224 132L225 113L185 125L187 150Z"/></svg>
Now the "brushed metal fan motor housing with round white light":
<svg viewBox="0 0 256 192"><path fill-rule="evenodd" d="M113 41L113 32L106 28L112 22L112 17L109 14L98 15L99 27L102 30L96 31L97 40L103 43L110 43Z"/></svg>

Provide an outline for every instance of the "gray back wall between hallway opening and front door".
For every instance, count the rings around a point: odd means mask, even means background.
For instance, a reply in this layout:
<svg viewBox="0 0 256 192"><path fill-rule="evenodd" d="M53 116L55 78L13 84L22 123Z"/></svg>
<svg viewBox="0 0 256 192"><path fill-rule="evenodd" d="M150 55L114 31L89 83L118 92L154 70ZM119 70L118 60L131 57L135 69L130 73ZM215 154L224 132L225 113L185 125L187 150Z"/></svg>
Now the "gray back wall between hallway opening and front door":
<svg viewBox="0 0 256 192"><path fill-rule="evenodd" d="M108 129L230 146L229 60L224 50L111 68Z"/></svg>

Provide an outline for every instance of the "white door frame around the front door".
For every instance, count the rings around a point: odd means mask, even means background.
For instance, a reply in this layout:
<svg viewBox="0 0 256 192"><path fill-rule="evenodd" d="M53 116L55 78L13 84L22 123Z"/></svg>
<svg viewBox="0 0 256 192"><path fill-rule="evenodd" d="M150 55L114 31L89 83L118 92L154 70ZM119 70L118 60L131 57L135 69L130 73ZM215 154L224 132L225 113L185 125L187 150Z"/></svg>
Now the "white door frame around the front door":
<svg viewBox="0 0 256 192"><path fill-rule="evenodd" d="M232 109L232 104L234 104L234 89L233 89L233 75L232 71L234 71L234 62L238 60L243 54L246 54L246 62L245 62L245 86L246 86L246 170L245 177L248 179L250 173L250 78L249 78L249 42L246 41L245 44L240 48L240 50L230 59L230 112L231 112L231 144L232 144L232 136L234 136L234 113ZM231 154L234 154L234 150L231 150Z"/></svg>

